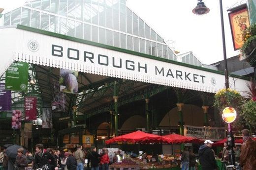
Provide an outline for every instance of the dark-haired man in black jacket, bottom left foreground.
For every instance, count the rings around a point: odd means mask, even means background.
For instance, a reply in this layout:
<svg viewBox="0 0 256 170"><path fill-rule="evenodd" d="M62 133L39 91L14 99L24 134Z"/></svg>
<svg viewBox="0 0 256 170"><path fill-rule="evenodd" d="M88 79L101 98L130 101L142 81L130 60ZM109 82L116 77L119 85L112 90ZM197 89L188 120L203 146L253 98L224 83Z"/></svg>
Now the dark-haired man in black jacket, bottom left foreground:
<svg viewBox="0 0 256 170"><path fill-rule="evenodd" d="M47 165L50 169L50 162L55 162L53 155L44 149L42 144L35 145L35 155L34 155L34 166L35 169L42 168Z"/></svg>

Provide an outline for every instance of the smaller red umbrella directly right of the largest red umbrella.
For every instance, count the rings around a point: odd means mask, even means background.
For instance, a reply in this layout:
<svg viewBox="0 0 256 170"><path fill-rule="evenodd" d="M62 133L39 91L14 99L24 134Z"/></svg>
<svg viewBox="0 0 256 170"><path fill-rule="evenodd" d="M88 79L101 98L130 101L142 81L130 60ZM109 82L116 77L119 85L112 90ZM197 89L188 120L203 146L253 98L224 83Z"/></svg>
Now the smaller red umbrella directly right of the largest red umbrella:
<svg viewBox="0 0 256 170"><path fill-rule="evenodd" d="M170 143L172 143L172 144L179 144L179 143L201 144L201 143L203 143L203 141L200 139L193 138L191 136L178 135L175 133L165 135L163 137L170 139L171 140Z"/></svg>

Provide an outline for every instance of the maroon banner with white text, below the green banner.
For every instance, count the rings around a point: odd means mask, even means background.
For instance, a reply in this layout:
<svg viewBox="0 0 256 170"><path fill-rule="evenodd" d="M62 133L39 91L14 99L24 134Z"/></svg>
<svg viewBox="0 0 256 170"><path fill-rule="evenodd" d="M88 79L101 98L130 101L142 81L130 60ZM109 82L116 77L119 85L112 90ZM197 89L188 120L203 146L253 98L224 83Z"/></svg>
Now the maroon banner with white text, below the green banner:
<svg viewBox="0 0 256 170"><path fill-rule="evenodd" d="M26 121L36 120L36 97L24 97L24 110Z"/></svg>

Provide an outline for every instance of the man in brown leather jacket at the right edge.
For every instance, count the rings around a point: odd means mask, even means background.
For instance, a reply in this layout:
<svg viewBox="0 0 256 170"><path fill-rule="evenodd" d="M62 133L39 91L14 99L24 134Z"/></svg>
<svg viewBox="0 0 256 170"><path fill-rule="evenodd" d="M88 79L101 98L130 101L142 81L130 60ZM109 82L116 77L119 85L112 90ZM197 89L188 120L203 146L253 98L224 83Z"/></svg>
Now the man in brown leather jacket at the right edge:
<svg viewBox="0 0 256 170"><path fill-rule="evenodd" d="M242 136L239 164L243 170L256 170L256 141L252 140L248 129L242 130Z"/></svg>

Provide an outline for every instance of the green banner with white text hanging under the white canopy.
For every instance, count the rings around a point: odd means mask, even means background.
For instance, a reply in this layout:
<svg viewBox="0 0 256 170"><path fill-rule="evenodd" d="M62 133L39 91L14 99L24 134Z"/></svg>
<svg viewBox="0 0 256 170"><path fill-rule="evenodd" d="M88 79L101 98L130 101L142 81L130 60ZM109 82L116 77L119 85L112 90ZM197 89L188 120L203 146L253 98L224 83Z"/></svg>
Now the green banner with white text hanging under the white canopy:
<svg viewBox="0 0 256 170"><path fill-rule="evenodd" d="M28 91L29 64L15 62L5 72L5 89Z"/></svg>

